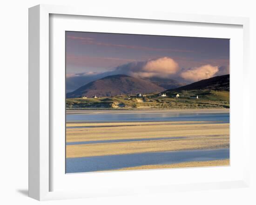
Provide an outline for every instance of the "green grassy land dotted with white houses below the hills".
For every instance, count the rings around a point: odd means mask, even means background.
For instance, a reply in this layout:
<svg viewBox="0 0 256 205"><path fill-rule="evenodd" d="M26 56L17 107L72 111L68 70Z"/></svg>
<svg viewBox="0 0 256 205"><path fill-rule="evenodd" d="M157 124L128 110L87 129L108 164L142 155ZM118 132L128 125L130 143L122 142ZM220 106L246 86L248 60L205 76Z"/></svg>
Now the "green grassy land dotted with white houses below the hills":
<svg viewBox="0 0 256 205"><path fill-rule="evenodd" d="M176 98L179 94L180 97ZM198 96L193 99L191 96ZM145 97L115 96L101 98L67 98L67 109L196 109L229 108L229 91L169 91L166 97L148 94Z"/></svg>

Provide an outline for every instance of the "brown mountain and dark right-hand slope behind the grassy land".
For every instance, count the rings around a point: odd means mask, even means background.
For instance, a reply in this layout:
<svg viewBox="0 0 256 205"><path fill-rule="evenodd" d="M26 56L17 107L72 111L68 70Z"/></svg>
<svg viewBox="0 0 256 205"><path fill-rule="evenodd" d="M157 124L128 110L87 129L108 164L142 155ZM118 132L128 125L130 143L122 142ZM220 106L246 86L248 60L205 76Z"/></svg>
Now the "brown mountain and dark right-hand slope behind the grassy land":
<svg viewBox="0 0 256 205"><path fill-rule="evenodd" d="M211 77L189 85L182 85L175 81L159 78L146 80L127 75L111 75L87 83L77 90L67 93L67 98L135 95L136 93L160 93L175 90L229 90L229 75Z"/></svg>

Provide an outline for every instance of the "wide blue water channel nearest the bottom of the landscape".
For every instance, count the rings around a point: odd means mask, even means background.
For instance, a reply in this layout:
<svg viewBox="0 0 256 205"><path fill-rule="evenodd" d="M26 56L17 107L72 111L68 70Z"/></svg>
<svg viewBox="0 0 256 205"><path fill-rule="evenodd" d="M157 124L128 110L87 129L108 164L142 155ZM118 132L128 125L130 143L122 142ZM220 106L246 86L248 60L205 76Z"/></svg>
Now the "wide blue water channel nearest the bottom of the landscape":
<svg viewBox="0 0 256 205"><path fill-rule="evenodd" d="M142 165L229 159L229 149L121 154L66 159L66 173L95 172Z"/></svg>

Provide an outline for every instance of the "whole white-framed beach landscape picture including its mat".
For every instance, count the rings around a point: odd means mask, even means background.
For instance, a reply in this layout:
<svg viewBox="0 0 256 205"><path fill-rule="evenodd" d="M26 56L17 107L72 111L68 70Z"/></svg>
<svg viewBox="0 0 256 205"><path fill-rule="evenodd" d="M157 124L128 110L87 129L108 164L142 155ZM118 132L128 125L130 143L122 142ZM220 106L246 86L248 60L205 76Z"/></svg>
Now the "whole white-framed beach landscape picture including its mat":
<svg viewBox="0 0 256 205"><path fill-rule="evenodd" d="M30 8L29 196L249 186L248 52L247 18Z"/></svg>

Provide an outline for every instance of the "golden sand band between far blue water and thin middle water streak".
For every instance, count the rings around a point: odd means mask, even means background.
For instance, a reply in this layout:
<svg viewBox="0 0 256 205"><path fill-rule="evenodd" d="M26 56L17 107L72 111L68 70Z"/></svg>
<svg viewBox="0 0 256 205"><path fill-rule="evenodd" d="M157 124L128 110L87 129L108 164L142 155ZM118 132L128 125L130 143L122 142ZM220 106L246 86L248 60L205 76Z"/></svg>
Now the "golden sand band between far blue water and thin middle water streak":
<svg viewBox="0 0 256 205"><path fill-rule="evenodd" d="M105 127L97 127L105 124ZM113 127L113 125L122 125ZM92 123L82 123L82 126L92 126ZM125 126L127 125L127 126ZM131 126L134 125L134 126ZM73 125L74 126L74 125ZM180 137L180 136L229 136L229 123L187 123L173 122L120 122L93 123L90 128L68 128L66 142L102 141L136 138Z"/></svg>

